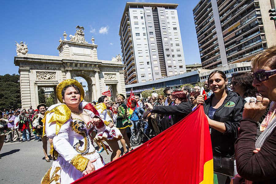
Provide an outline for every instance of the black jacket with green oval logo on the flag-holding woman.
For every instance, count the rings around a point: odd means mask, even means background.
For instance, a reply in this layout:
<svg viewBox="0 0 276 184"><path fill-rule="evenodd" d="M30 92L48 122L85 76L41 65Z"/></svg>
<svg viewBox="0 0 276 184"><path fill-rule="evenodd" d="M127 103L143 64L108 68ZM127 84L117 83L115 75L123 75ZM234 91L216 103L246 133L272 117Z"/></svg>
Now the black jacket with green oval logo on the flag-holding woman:
<svg viewBox="0 0 276 184"><path fill-rule="evenodd" d="M209 108L214 94L205 100L203 107L204 113L208 116ZM235 154L234 143L238 137L240 120L243 117L243 106L246 101L235 93L228 91L222 105L214 113L213 120L223 122L226 132L221 133L211 128L211 141L213 153L219 153L223 156L231 157ZM252 150L253 151L253 150Z"/></svg>

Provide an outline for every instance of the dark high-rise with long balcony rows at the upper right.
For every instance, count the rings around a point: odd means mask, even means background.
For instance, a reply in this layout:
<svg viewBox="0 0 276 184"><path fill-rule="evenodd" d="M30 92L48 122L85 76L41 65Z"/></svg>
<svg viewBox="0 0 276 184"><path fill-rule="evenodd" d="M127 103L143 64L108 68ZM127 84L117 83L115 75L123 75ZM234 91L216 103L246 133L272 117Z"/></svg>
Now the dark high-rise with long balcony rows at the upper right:
<svg viewBox="0 0 276 184"><path fill-rule="evenodd" d="M247 62L276 44L275 0L201 0L193 10L202 68Z"/></svg>

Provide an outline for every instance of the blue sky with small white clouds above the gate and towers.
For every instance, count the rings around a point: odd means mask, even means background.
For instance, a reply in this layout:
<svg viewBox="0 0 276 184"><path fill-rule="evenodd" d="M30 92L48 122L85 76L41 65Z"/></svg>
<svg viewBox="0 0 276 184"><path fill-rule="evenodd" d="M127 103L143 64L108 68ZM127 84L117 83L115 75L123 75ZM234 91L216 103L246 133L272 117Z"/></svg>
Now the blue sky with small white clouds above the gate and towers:
<svg viewBox="0 0 276 184"><path fill-rule="evenodd" d="M121 54L119 25L127 1L4 1L1 3L0 75L18 74L14 65L17 41L26 42L30 54L58 56L63 32L74 35L84 27L88 43L98 44L98 59L111 60ZM186 64L200 63L192 10L198 1L138 1L178 3L178 19ZM69 38L70 39L70 38Z"/></svg>

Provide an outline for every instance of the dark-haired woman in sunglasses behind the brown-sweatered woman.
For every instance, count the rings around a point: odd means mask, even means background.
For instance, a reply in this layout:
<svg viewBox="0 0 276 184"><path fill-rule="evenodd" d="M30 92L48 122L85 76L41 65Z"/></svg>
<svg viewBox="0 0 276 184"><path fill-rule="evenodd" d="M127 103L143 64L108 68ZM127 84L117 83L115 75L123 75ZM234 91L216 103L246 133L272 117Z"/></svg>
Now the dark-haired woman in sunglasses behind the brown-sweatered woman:
<svg viewBox="0 0 276 184"><path fill-rule="evenodd" d="M233 92L238 93L246 102L251 98L256 100L257 88L252 86L253 77L249 73L241 72L232 75L231 87Z"/></svg>

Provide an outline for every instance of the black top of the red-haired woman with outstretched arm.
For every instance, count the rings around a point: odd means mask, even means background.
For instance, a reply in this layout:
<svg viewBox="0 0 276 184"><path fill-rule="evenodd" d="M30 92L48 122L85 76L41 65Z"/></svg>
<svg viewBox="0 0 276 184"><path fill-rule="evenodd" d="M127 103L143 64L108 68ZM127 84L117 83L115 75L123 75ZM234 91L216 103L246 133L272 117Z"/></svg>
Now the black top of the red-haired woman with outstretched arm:
<svg viewBox="0 0 276 184"><path fill-rule="evenodd" d="M181 102L179 105L154 106L152 112L157 114L173 115L173 122L176 124L191 113L192 108L188 102Z"/></svg>

